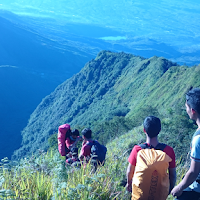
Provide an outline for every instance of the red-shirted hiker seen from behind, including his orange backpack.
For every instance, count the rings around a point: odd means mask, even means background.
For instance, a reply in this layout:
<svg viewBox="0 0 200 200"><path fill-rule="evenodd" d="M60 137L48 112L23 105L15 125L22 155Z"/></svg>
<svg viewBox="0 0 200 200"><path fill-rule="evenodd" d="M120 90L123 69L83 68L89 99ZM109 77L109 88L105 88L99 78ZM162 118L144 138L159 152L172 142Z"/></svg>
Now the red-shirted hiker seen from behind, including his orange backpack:
<svg viewBox="0 0 200 200"><path fill-rule="evenodd" d="M158 142L157 135L160 130L160 119L154 116L147 117L144 120L146 143L135 145L129 156L126 187L132 192L134 200L164 200L175 185L174 150Z"/></svg>

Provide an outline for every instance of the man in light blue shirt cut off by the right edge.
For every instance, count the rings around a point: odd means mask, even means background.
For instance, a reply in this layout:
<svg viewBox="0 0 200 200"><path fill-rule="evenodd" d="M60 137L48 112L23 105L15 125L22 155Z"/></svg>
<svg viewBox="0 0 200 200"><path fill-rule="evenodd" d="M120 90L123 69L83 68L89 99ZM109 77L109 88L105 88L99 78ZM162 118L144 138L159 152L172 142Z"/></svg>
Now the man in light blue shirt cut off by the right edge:
<svg viewBox="0 0 200 200"><path fill-rule="evenodd" d="M186 112L195 120L198 128L191 143L190 168L183 180L174 187L171 194L176 200L200 199L200 89L194 88L186 94Z"/></svg>

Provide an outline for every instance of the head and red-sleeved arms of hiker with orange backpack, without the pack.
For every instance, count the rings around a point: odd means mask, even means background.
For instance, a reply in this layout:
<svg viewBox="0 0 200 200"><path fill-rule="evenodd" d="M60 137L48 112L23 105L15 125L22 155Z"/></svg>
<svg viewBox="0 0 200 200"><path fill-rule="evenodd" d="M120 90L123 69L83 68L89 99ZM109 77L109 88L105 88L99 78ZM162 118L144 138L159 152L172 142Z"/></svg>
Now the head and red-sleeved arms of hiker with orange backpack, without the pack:
<svg viewBox="0 0 200 200"><path fill-rule="evenodd" d="M143 125L144 125L144 132L146 134L147 145L156 147L159 144L157 136L161 130L160 119L154 116L146 117ZM141 149L142 148L139 145L135 145L128 158L129 165L127 167L127 173L126 173L127 175L126 189L129 192L132 192L132 178L134 175L135 167L137 165L137 153ZM172 161L169 163L169 169L168 169L169 179L170 179L170 191L171 191L176 183L175 153L173 148L168 145L166 145L163 151L172 159Z"/></svg>

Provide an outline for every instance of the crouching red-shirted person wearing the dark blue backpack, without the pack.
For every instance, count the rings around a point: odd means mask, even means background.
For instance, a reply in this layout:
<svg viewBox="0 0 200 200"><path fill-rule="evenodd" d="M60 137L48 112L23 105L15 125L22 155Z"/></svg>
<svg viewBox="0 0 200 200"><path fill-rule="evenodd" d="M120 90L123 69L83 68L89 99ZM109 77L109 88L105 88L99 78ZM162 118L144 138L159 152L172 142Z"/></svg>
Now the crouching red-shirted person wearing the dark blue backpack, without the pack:
<svg viewBox="0 0 200 200"><path fill-rule="evenodd" d="M89 143L93 142L92 131L89 128L85 128L82 130L81 133L83 137L83 142L82 142L81 152L79 154L79 159L81 161L85 160L86 162L88 162L89 159L91 158L90 154L92 146L89 145Z"/></svg>

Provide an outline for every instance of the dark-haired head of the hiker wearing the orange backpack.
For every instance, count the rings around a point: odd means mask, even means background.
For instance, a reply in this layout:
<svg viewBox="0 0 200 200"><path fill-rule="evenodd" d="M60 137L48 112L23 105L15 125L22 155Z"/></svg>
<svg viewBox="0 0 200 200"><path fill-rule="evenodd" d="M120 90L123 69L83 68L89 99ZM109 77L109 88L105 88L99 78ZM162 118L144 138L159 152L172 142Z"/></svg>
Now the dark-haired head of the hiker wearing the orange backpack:
<svg viewBox="0 0 200 200"><path fill-rule="evenodd" d="M150 138L156 137L161 130L160 119L155 116L146 117L143 125L144 131Z"/></svg>

